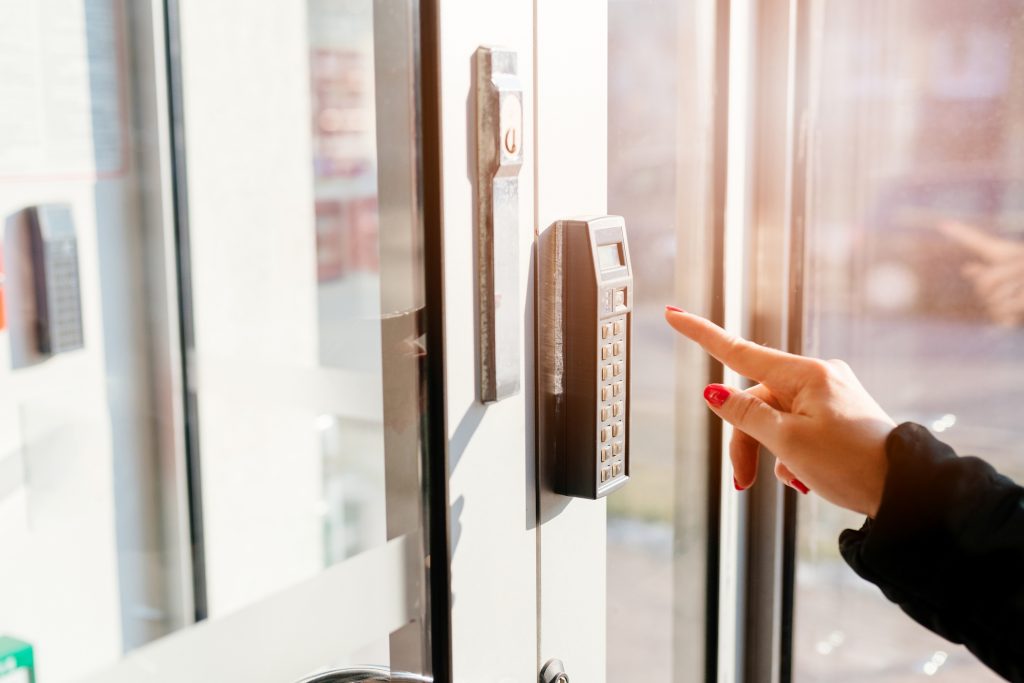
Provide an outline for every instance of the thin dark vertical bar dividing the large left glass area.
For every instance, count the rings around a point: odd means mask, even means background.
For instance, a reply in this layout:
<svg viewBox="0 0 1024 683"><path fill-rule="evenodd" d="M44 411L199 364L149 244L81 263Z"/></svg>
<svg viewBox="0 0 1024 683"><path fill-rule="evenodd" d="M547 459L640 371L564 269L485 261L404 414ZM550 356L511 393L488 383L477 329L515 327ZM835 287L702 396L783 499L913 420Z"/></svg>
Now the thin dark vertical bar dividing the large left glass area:
<svg viewBox="0 0 1024 683"><path fill-rule="evenodd" d="M184 95L181 74L181 23L178 0L164 2L164 40L167 46L167 100L171 135L171 194L177 245L178 316L185 409L185 472L188 486L188 535L191 541L194 616L209 613L206 586L206 540L203 528L203 477L200 460L199 399L194 390L196 329L193 317L191 261L188 222L188 183L185 166Z"/></svg>

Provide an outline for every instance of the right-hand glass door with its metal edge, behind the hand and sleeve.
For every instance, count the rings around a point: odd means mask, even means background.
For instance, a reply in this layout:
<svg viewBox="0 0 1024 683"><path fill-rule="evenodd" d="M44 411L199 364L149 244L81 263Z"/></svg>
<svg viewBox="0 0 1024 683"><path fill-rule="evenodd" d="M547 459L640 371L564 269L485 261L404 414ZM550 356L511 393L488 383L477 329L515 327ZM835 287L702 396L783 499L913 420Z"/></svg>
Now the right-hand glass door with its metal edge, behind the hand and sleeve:
<svg viewBox="0 0 1024 683"><path fill-rule="evenodd" d="M1019 479L1020 3L736 8L752 336L847 360L897 423ZM996 680L846 565L839 533L862 517L756 488L740 525L751 680Z"/></svg>

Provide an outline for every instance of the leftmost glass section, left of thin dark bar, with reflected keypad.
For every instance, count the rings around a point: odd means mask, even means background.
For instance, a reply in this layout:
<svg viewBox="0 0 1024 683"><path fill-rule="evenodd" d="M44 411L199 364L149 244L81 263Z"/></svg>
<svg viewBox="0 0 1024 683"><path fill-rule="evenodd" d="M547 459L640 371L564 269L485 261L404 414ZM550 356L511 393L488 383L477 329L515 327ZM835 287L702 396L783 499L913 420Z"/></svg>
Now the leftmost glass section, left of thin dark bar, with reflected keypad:
<svg viewBox="0 0 1024 683"><path fill-rule="evenodd" d="M60 683L191 613L160 79L144 3L0 15L0 672Z"/></svg>

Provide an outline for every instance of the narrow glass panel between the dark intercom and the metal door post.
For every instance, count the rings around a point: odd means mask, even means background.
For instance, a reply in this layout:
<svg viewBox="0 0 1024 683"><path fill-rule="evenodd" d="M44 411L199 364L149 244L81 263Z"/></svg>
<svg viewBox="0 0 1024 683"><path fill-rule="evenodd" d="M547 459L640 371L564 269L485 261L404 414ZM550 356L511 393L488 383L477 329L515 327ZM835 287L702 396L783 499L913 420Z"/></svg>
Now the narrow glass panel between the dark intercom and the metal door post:
<svg viewBox="0 0 1024 683"><path fill-rule="evenodd" d="M608 211L636 279L630 482L608 498L607 679L703 678L708 367L666 304L708 311L713 3L608 2ZM612 256L614 258L614 255Z"/></svg>

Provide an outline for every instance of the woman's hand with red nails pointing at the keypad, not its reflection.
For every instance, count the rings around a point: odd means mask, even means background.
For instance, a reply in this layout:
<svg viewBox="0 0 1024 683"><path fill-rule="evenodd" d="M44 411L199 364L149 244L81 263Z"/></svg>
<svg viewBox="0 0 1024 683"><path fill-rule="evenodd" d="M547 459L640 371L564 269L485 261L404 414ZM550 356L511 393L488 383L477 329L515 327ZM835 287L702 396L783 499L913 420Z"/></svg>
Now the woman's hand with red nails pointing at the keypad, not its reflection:
<svg viewBox="0 0 1024 683"><path fill-rule="evenodd" d="M737 488L754 483L763 444L775 456L775 476L783 483L800 488L803 482L836 505L876 515L888 469L886 438L896 424L849 366L758 346L672 307L665 316L723 364L760 382L745 391L718 384L705 390L711 410L735 427L729 452Z"/></svg>

